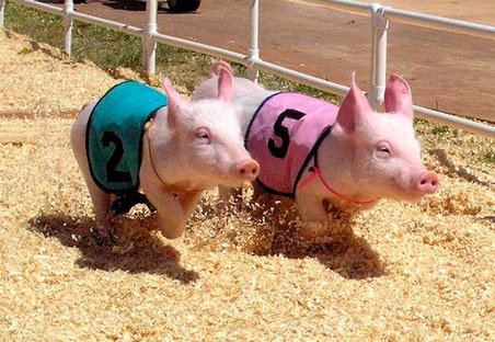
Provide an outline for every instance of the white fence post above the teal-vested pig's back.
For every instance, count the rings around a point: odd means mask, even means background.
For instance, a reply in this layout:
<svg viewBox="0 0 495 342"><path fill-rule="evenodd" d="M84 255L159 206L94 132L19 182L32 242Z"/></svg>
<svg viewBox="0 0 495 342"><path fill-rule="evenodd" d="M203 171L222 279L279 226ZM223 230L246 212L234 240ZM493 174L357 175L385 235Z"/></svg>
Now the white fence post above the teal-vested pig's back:
<svg viewBox="0 0 495 342"><path fill-rule="evenodd" d="M157 33L157 11L158 1L147 0L146 2L146 24L142 27L142 71L147 76L154 75L157 71L156 57L157 57L157 42L151 36Z"/></svg>

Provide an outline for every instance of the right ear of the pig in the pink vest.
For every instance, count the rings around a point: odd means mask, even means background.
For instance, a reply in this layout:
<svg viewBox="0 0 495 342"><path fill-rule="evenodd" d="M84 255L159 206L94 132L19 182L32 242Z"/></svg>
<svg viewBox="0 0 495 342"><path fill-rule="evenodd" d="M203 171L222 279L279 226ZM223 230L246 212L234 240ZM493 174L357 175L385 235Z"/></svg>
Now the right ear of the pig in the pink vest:
<svg viewBox="0 0 495 342"><path fill-rule="evenodd" d="M413 95L407 82L396 76L392 75L387 82L384 107L387 113L396 113L413 117Z"/></svg>

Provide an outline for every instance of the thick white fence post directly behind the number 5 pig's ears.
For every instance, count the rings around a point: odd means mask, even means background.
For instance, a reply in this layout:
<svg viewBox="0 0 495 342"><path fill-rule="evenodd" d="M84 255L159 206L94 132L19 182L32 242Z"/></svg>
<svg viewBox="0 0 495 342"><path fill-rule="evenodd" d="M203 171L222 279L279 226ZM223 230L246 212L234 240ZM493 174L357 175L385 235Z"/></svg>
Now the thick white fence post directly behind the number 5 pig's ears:
<svg viewBox="0 0 495 342"><path fill-rule="evenodd" d="M384 8L371 5L371 84L369 102L376 110L383 103L387 82L387 32L389 20L383 15Z"/></svg>

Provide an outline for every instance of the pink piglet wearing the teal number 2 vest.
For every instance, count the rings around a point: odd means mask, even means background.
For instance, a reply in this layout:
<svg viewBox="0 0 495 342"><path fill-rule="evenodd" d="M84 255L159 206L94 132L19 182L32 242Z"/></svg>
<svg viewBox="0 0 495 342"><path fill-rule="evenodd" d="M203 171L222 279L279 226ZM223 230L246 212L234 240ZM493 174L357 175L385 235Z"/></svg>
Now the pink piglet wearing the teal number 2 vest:
<svg viewBox="0 0 495 342"><path fill-rule="evenodd" d="M177 238L204 190L240 185L258 173L243 146L230 72L219 72L218 95L196 102L168 79L163 86L168 96L120 83L84 105L72 126L72 150L103 237L114 215L149 201L158 212L152 228Z"/></svg>

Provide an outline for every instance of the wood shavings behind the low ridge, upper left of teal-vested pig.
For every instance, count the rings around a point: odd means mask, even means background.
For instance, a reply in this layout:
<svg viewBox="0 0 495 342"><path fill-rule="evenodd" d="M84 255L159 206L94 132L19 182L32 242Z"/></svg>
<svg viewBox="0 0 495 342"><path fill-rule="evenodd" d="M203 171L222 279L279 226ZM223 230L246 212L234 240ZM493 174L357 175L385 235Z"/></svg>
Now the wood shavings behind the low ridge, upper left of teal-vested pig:
<svg viewBox="0 0 495 342"><path fill-rule="evenodd" d="M89 101L101 98L124 79L114 79L91 62L74 62L60 50L15 33L0 32L0 113L31 113L33 116L72 116ZM129 76L119 70L119 76ZM18 77L13 77L18 76ZM47 77L48 76L48 77Z"/></svg>

